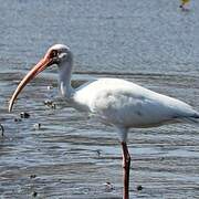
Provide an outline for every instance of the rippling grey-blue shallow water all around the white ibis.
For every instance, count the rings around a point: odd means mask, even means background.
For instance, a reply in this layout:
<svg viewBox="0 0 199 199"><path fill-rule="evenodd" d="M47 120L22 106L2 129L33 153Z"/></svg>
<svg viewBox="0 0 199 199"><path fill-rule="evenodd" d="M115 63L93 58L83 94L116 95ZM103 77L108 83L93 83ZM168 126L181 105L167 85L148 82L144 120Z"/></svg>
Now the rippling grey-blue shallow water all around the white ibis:
<svg viewBox="0 0 199 199"><path fill-rule="evenodd" d="M192 1L188 12L178 9L178 1L165 0L0 4L0 198L34 192L38 198L121 198L117 134L59 97L56 70L29 84L11 114L8 101L45 50L65 43L75 56L75 86L102 76L126 78L199 109L199 3ZM44 106L45 100L56 108ZM31 117L14 122L24 111ZM198 127L132 129L128 145L130 198L199 196Z"/></svg>

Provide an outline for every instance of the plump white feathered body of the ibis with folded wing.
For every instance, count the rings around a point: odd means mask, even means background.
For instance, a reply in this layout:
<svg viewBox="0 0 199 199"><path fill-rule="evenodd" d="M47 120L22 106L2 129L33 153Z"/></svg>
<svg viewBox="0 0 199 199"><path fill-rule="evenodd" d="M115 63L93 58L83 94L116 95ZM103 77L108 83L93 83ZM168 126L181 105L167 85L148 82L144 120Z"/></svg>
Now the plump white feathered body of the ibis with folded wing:
<svg viewBox="0 0 199 199"><path fill-rule="evenodd" d="M193 114L181 101L118 78L95 81L80 91L78 98L105 122L126 127L158 126Z"/></svg>

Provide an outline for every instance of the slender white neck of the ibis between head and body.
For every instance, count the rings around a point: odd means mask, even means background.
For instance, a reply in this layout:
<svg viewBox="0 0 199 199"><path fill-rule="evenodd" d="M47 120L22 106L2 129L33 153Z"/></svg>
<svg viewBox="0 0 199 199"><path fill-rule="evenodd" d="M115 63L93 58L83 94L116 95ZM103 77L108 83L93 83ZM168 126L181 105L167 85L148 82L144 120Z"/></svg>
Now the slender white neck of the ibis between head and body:
<svg viewBox="0 0 199 199"><path fill-rule="evenodd" d="M71 86L71 75L72 75L72 66L73 66L73 60L70 59L63 63L60 64L59 70L59 86L61 94L66 97L71 98L74 88Z"/></svg>

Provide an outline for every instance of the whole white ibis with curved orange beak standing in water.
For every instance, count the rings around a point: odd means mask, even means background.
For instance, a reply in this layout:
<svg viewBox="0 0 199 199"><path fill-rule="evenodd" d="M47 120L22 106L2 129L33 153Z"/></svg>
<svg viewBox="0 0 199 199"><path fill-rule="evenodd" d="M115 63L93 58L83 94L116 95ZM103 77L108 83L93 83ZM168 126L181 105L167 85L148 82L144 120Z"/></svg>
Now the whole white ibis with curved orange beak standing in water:
<svg viewBox="0 0 199 199"><path fill-rule="evenodd" d="M76 109L90 112L105 124L115 126L123 150L124 191L128 199L130 155L127 147L129 128L155 127L170 123L197 123L199 113L188 104L155 93L119 78L98 78L76 90L71 85L73 54L66 45L51 46L44 57L23 77L13 93L9 112L21 90L40 72L56 64L59 87L67 103Z"/></svg>

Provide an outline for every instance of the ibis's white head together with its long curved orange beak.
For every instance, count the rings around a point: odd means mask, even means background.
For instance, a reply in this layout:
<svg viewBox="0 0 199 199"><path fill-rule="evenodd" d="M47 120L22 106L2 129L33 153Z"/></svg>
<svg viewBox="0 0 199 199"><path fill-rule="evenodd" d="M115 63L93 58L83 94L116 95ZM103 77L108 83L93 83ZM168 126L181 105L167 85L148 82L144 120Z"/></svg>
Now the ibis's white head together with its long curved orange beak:
<svg viewBox="0 0 199 199"><path fill-rule="evenodd" d="M23 80L18 85L17 90L14 91L10 104L9 104L9 112L12 111L13 103L22 88L31 81L33 80L39 73L44 71L46 67L56 64L59 67L61 67L64 62L71 62L72 60L72 53L70 49L64 44L55 44L51 46L45 55L38 62L36 65L32 67L32 70L23 77Z"/></svg>

